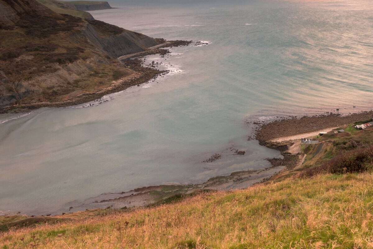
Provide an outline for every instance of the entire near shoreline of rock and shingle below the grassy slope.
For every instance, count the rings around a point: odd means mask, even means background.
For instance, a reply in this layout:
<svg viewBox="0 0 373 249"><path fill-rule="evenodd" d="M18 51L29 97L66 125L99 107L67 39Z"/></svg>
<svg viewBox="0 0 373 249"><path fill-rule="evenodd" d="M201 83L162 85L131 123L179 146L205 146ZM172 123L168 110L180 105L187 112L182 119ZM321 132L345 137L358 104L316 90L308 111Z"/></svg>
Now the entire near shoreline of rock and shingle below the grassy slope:
<svg viewBox="0 0 373 249"><path fill-rule="evenodd" d="M2 212L0 215L36 215L36 216L58 216L71 214L84 210L91 209L127 209L127 208L146 208L148 206L160 205L168 203L170 200L179 199L184 196L209 191L231 191L236 189L246 189L255 184L269 183L270 181L280 178L286 172L300 166L304 160L304 154L300 152L300 138L316 136L321 131L330 131L335 127L330 127L330 124L337 122L345 122L345 125L357 121L365 120L369 116L373 116L373 111L362 111L352 113L350 115L339 115L334 113L326 113L315 116L301 116L291 118L280 118L269 121L267 123L258 124L255 129L256 138L262 146L280 151L283 158L267 158L272 166L258 170L235 171L229 175L220 175L211 177L203 183L197 184L162 184L158 186L144 186L134 190L118 193L103 193L95 197L90 197L83 201L74 201L65 203L65 205L53 212L21 212L10 211ZM361 119L363 118L363 119ZM310 122L313 120L313 122ZM314 127L313 132L298 133L296 135L286 136L294 133L283 127L301 127L297 131L307 129L305 124L314 124L322 122L328 128L320 130L320 127ZM303 128L302 128L303 127ZM322 128L322 127L321 127ZM273 129L276 132L267 134L263 133ZM263 138L267 138L264 140Z"/></svg>

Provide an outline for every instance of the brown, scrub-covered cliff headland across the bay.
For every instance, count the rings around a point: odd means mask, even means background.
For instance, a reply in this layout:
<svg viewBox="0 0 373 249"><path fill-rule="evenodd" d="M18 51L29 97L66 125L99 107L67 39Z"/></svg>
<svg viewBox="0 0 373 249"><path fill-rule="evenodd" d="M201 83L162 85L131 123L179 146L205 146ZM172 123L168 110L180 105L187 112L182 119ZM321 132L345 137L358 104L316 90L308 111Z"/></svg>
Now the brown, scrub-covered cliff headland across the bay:
<svg viewBox="0 0 373 249"><path fill-rule="evenodd" d="M116 58L157 41L58 14L35 0L0 0L0 106L61 102L141 75ZM131 76L132 75L132 76Z"/></svg>

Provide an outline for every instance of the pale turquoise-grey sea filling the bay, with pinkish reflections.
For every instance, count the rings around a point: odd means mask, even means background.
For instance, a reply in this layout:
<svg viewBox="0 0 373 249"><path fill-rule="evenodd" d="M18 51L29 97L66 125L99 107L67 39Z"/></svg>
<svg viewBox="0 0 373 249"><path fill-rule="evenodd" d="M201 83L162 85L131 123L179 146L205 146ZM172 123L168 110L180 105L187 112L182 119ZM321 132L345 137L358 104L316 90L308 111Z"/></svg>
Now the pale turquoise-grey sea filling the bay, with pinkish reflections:
<svg viewBox="0 0 373 249"><path fill-rule="evenodd" d="M109 1L118 9L91 13L211 44L148 56L174 72L102 105L0 115L0 211L50 212L101 193L266 168L279 153L247 141L245 120L372 107L371 0L151 2ZM222 159L201 163L214 153Z"/></svg>

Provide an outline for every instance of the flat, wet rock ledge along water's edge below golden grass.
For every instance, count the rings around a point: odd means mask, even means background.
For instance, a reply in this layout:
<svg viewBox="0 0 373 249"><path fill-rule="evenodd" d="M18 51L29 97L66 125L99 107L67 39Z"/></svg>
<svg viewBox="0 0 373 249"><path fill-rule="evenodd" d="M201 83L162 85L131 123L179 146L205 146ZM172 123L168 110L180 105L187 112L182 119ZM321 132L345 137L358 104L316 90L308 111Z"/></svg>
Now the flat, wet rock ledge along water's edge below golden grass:
<svg viewBox="0 0 373 249"><path fill-rule="evenodd" d="M86 199L82 203L67 203L65 208L53 212L52 214L47 214L47 216L68 214L83 211L85 209L96 208L136 208L163 204L201 192L245 189L253 184L269 179L272 175L280 172L284 168L285 166L277 165L261 170L238 171L233 172L228 176L210 178L208 181L201 184L170 184L142 187L121 193L104 193Z"/></svg>

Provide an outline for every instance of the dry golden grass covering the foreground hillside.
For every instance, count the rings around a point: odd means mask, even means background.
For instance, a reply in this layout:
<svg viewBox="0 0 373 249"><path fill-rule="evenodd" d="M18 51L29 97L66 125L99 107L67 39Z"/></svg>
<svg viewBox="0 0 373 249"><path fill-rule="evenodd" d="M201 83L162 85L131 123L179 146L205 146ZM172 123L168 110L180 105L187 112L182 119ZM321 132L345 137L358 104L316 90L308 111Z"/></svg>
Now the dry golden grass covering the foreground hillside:
<svg viewBox="0 0 373 249"><path fill-rule="evenodd" d="M373 175L319 175L10 230L0 248L373 248Z"/></svg>

